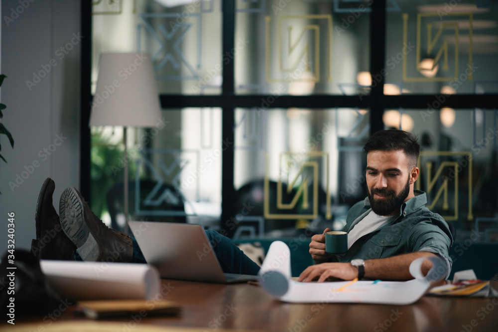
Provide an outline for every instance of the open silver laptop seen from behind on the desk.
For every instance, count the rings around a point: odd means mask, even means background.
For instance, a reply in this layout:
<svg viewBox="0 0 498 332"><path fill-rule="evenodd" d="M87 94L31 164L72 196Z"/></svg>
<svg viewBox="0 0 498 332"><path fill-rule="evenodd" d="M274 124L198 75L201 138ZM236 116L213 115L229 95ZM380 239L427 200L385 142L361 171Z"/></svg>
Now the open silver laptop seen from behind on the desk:
<svg viewBox="0 0 498 332"><path fill-rule="evenodd" d="M129 221L131 231L148 264L161 278L238 283L256 276L223 273L201 225L174 222Z"/></svg>

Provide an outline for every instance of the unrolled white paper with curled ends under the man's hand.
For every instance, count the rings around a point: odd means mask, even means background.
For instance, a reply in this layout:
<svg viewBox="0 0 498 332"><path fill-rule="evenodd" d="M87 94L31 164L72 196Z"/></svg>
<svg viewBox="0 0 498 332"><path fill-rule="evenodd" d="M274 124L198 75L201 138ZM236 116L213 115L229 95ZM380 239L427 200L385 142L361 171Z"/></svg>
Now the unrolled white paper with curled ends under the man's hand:
<svg viewBox="0 0 498 332"><path fill-rule="evenodd" d="M429 259L433 266L422 274L422 262ZM443 279L448 272L444 260L436 257L417 258L410 265L415 278L409 281L357 281L344 290L350 281L304 283L291 279L290 250L282 241L271 243L258 274L262 288L274 298L289 303L376 303L407 305L420 299L432 282Z"/></svg>

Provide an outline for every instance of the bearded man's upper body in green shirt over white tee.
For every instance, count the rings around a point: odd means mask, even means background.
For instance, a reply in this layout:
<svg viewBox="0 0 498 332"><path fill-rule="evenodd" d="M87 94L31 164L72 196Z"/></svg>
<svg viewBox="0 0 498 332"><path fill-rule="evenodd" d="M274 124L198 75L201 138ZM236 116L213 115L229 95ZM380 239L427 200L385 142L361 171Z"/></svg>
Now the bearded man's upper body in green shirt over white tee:
<svg viewBox="0 0 498 332"><path fill-rule="evenodd" d="M305 269L298 280L408 280L413 278L411 262L431 256L443 258L450 271L450 226L425 207L424 192L413 190L420 172L416 137L402 130L377 131L363 152L367 154L368 197L348 211L342 229L348 233L348 251L343 255L325 251L324 234L329 228L314 235L309 252L316 264ZM426 260L422 270L427 273L431 266Z"/></svg>

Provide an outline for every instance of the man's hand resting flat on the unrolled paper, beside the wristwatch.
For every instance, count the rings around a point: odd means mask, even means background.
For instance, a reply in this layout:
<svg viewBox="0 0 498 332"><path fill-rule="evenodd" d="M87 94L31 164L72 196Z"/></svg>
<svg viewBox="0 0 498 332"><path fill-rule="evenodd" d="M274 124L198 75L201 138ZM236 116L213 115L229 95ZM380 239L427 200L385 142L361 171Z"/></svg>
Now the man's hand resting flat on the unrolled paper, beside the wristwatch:
<svg viewBox="0 0 498 332"><path fill-rule="evenodd" d="M310 282L318 278L318 282L324 282L329 277L353 280L358 277L358 268L351 265L351 263L322 263L312 265L301 273L297 281Z"/></svg>

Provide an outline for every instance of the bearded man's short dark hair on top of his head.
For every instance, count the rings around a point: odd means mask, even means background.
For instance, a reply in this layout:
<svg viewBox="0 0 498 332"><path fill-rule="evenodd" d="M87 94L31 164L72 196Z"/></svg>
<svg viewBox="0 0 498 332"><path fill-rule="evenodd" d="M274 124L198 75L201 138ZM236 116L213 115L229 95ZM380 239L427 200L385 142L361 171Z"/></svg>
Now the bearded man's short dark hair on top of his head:
<svg viewBox="0 0 498 332"><path fill-rule="evenodd" d="M363 152L367 154L370 151L393 150L403 150L410 161L409 167L417 166L420 144L417 142L417 136L409 132L397 129L379 130L370 136L363 147Z"/></svg>

